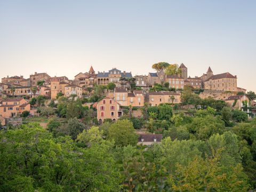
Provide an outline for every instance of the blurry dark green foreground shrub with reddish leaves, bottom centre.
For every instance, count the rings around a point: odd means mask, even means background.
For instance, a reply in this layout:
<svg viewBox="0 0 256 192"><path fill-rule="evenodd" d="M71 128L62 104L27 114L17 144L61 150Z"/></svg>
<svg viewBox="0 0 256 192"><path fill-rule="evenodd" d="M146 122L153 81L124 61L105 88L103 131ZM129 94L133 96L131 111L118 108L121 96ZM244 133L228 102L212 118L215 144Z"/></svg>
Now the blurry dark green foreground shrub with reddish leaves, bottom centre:
<svg viewBox="0 0 256 192"><path fill-rule="evenodd" d="M138 146L130 158L123 158L121 165L127 191L162 191L166 186L165 167L153 161L153 155L146 147Z"/></svg>

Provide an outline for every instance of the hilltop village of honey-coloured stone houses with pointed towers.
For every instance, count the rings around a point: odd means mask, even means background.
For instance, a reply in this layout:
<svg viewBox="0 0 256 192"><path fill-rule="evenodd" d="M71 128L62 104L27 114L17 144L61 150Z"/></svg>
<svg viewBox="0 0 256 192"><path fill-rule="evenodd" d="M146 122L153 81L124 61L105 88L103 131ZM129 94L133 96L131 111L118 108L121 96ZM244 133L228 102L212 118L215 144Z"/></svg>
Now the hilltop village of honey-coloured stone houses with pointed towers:
<svg viewBox="0 0 256 192"><path fill-rule="evenodd" d="M156 63L153 69L156 72L133 76L131 72L117 68L95 73L91 66L88 72L78 73L73 80L66 76L51 77L47 73L36 72L29 78L7 76L0 83L0 117L17 117L24 111L32 116L38 115L36 107L40 106L31 103L38 97L44 102L51 100L54 103L58 102L60 96L83 99L84 105L97 109L99 124L105 119L116 121L123 115L123 107L140 108L145 103L149 106L172 103L177 108L201 107L189 102L186 102L186 106L181 105L184 104L182 92L186 87L201 99L225 101L230 107L239 110L244 107L245 101L246 108L251 109L254 105L246 90L237 87L237 76L228 72L214 75L209 67L202 76L190 77L183 63L178 66L165 62ZM99 89L102 93L95 97L95 91ZM249 117L255 115L252 110L245 112Z"/></svg>

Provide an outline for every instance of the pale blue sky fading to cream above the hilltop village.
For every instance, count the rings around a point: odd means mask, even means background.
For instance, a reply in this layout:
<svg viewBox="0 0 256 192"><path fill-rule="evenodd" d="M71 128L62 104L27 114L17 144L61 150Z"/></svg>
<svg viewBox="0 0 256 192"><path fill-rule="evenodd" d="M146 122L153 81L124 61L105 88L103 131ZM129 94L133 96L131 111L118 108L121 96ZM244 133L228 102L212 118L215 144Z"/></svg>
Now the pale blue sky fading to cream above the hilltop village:
<svg viewBox="0 0 256 192"><path fill-rule="evenodd" d="M256 1L0 0L0 78L93 66L147 75L156 62L188 74L229 72L256 91Z"/></svg>

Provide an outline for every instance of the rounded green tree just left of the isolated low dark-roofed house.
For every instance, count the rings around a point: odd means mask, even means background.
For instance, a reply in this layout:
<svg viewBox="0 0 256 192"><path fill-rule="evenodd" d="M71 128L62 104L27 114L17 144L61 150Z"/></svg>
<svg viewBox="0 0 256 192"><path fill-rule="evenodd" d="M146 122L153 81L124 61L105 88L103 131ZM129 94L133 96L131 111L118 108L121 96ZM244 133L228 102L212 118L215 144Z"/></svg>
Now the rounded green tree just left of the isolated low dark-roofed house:
<svg viewBox="0 0 256 192"><path fill-rule="evenodd" d="M138 134L135 133L132 122L124 119L110 125L108 140L114 140L116 146L136 145Z"/></svg>

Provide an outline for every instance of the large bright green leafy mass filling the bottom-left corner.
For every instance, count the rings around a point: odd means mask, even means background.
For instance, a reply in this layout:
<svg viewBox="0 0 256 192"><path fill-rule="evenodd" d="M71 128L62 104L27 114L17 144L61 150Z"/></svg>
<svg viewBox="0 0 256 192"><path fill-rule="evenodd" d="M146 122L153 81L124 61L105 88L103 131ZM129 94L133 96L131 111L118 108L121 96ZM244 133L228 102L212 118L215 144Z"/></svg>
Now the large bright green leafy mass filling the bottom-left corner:
<svg viewBox="0 0 256 192"><path fill-rule="evenodd" d="M37 125L0 132L0 191L120 191L121 175L111 149L90 148Z"/></svg>

